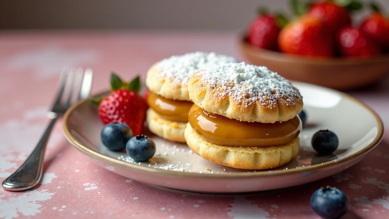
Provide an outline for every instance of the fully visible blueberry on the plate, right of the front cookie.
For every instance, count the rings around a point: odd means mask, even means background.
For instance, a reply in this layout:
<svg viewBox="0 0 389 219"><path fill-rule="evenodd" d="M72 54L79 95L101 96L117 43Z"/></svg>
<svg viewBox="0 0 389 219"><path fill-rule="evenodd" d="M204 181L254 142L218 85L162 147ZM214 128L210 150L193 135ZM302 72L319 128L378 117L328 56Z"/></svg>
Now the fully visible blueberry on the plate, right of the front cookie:
<svg viewBox="0 0 389 219"><path fill-rule="evenodd" d="M334 132L320 130L314 134L311 143L317 153L329 155L338 148L339 139Z"/></svg>

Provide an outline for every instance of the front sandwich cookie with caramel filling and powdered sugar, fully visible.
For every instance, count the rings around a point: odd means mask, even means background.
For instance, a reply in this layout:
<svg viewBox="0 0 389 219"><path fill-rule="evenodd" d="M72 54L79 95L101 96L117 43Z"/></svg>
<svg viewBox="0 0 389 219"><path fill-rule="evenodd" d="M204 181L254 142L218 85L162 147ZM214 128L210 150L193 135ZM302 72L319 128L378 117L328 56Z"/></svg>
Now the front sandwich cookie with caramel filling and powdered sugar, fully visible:
<svg viewBox="0 0 389 219"><path fill-rule="evenodd" d="M266 67L222 64L193 74L187 145L209 161L268 169L296 157L303 107L297 88Z"/></svg>

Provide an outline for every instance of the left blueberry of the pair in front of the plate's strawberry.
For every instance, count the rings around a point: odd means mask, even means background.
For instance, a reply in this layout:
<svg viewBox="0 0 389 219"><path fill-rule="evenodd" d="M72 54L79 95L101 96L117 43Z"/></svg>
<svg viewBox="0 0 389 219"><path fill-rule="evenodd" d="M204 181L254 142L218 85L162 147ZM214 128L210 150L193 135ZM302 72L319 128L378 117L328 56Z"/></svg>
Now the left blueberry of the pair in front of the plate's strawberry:
<svg viewBox="0 0 389 219"><path fill-rule="evenodd" d="M132 138L132 130L124 123L111 123L103 127L100 138L109 150L123 150Z"/></svg>

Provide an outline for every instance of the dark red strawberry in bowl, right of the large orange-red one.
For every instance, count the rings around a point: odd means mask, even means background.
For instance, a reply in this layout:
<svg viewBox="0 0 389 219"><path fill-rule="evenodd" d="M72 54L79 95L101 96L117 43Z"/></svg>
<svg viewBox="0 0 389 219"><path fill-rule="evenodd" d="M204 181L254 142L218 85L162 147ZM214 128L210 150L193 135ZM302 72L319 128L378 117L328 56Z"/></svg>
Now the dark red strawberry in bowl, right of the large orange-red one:
<svg viewBox="0 0 389 219"><path fill-rule="evenodd" d="M337 43L343 56L372 57L380 54L380 48L374 41L351 26L343 27L338 32Z"/></svg>

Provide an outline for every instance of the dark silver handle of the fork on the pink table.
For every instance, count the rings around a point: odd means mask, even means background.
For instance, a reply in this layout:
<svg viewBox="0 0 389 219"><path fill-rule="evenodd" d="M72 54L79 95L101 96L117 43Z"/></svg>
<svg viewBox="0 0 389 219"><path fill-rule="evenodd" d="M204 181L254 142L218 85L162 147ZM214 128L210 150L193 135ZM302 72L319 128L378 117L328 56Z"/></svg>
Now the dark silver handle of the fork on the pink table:
<svg viewBox="0 0 389 219"><path fill-rule="evenodd" d="M26 161L6 178L2 187L8 191L23 191L28 190L37 185L42 177L43 158L45 155L47 141L49 140L51 131L53 130L55 122L58 120L58 115L51 118L50 124L47 126L39 143L26 159Z"/></svg>

